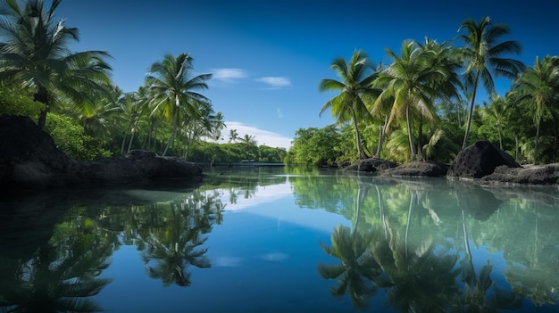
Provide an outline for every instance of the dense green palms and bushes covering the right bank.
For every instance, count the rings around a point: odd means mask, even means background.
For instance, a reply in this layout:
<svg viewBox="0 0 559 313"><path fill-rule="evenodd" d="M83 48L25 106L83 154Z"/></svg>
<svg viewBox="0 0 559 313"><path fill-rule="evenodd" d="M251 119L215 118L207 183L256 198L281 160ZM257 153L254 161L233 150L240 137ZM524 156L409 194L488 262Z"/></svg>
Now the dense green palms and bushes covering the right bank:
<svg viewBox="0 0 559 313"><path fill-rule="evenodd" d="M334 60L341 79L323 79L320 90L339 94L320 113L330 109L337 123L297 130L286 161L452 162L478 140L521 163L559 161L559 58L536 57L527 67L511 55L521 45L501 40L509 33L489 18L467 19L455 46L406 40L399 53L387 49L392 63L377 67L363 51ZM498 77L512 79L505 97L496 95ZM476 104L480 87L489 95L483 105Z"/></svg>

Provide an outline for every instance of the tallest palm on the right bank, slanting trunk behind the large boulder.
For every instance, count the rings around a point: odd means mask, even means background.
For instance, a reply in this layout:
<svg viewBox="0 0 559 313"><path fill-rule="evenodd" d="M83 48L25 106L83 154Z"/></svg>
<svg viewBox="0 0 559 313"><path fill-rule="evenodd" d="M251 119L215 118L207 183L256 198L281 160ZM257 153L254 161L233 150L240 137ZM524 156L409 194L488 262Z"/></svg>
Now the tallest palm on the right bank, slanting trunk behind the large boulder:
<svg viewBox="0 0 559 313"><path fill-rule="evenodd" d="M463 137L462 149L468 144L470 135L471 113L476 101L476 94L480 83L483 84L489 95L494 93L495 85L492 72L495 77L516 78L523 69L522 62L501 57L503 54L520 54L521 45L516 41L497 40L510 33L505 24L492 24L489 17L485 17L476 23L473 19L466 19L460 25L459 31L464 29L465 34L457 36L462 39L464 46L458 49L460 58L465 62L466 86L471 87L471 103L468 111L466 132Z"/></svg>

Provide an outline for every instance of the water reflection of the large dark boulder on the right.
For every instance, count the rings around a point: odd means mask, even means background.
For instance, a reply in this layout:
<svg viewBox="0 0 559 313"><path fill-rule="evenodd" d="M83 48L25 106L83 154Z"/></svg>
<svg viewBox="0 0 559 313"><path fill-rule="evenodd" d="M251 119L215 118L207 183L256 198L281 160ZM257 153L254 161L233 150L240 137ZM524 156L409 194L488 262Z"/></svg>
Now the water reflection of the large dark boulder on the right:
<svg viewBox="0 0 559 313"><path fill-rule="evenodd" d="M472 218L487 220L503 203L479 185L455 184L458 205Z"/></svg>

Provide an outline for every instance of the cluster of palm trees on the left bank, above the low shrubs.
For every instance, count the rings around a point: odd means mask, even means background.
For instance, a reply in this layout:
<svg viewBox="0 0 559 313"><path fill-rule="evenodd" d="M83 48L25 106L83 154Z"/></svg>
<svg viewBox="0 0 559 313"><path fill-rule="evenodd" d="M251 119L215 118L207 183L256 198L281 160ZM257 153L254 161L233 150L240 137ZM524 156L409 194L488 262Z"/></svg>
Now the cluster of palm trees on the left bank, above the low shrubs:
<svg viewBox="0 0 559 313"><path fill-rule="evenodd" d="M121 152L126 150L127 137L128 150L132 147L140 129L142 146L149 146L161 144L163 137L154 136L158 127L170 128L160 131L171 133L163 155L170 151L179 129L186 147L203 136L219 136L224 128L221 113L215 113L209 99L199 93L212 75L195 75L189 54L164 55L163 61L149 67L145 86L123 93L113 86L106 62L109 53L70 51L69 44L79 39L79 32L64 20L55 20L61 1L54 0L47 9L43 0L0 3L0 82L43 104L38 113L40 128L46 127L49 111L71 115L81 121L87 135L111 136L113 142L121 136Z"/></svg>

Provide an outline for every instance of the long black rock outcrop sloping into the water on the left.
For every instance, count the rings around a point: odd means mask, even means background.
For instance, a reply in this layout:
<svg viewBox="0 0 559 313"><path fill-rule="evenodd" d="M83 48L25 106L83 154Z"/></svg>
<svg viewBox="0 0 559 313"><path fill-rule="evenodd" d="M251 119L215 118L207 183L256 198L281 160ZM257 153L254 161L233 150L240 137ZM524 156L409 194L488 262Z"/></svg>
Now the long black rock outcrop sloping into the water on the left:
<svg viewBox="0 0 559 313"><path fill-rule="evenodd" d="M4 189L144 185L170 178L202 177L195 164L154 152L76 161L29 118L0 117L0 186Z"/></svg>

